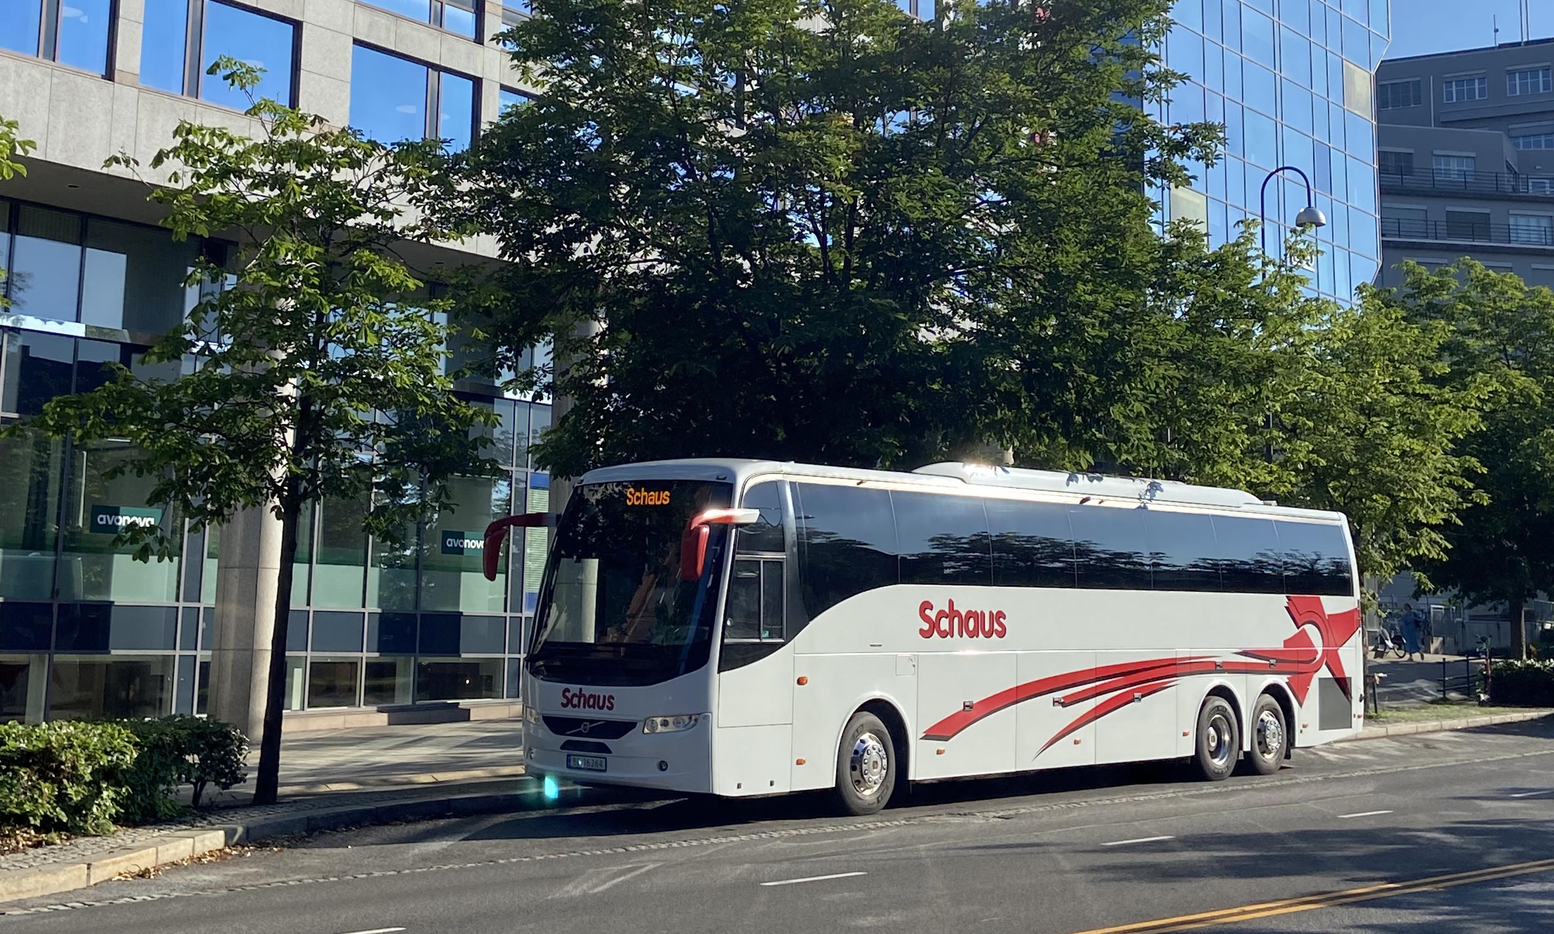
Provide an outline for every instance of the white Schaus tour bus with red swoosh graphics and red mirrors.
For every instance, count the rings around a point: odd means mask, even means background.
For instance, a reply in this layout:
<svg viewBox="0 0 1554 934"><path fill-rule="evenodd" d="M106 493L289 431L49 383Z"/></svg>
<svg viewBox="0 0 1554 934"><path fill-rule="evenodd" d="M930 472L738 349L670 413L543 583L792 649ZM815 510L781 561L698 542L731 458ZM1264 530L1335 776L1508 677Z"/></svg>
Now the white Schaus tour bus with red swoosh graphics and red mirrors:
<svg viewBox="0 0 1554 934"><path fill-rule="evenodd" d="M937 463L597 469L555 528L531 774L873 813L908 782L1181 758L1361 726L1344 516L1235 490Z"/></svg>

